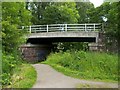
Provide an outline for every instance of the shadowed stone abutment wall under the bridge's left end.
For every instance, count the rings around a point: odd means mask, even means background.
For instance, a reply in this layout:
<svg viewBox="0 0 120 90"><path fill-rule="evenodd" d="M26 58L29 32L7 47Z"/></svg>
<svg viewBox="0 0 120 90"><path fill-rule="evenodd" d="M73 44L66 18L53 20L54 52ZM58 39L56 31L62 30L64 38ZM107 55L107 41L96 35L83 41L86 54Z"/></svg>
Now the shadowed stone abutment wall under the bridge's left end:
<svg viewBox="0 0 120 90"><path fill-rule="evenodd" d="M22 45L21 56L27 62L39 62L45 60L50 53L50 46L47 45Z"/></svg>

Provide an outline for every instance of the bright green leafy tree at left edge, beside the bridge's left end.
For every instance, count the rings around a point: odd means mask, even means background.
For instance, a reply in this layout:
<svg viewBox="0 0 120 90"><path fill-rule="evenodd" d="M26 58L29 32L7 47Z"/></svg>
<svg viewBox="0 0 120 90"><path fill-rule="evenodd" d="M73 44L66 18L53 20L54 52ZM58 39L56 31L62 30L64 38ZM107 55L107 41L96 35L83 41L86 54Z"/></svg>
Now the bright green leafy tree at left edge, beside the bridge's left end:
<svg viewBox="0 0 120 90"><path fill-rule="evenodd" d="M21 26L30 25L31 13L23 2L2 3L2 46L6 52L12 52L23 42L24 31Z"/></svg>

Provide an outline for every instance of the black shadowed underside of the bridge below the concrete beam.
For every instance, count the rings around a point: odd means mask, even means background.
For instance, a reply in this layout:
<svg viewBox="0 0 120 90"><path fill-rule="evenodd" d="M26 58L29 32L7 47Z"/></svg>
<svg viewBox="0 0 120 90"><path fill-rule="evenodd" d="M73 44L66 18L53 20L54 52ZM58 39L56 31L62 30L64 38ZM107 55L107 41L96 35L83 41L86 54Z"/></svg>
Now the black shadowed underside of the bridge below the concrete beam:
<svg viewBox="0 0 120 90"><path fill-rule="evenodd" d="M96 42L96 37L50 37L50 38L29 38L27 43L48 44L52 42Z"/></svg>

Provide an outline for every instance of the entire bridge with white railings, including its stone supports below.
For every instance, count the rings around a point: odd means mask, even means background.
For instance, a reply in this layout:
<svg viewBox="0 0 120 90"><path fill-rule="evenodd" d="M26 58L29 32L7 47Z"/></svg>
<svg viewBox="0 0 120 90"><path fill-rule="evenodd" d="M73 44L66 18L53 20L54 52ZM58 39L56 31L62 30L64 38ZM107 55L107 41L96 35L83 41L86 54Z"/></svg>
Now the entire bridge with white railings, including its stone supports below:
<svg viewBox="0 0 120 90"><path fill-rule="evenodd" d="M36 62L46 58L54 42L92 42L91 50L98 49L101 23L87 24L50 24L24 26L29 31L27 44L21 46L24 59Z"/></svg>

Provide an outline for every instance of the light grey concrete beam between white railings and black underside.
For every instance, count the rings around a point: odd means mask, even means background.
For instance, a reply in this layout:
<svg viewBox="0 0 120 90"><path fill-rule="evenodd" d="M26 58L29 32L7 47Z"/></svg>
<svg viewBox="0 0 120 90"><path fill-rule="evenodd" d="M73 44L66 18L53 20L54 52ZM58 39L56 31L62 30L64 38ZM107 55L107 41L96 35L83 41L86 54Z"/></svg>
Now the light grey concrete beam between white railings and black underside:
<svg viewBox="0 0 120 90"><path fill-rule="evenodd" d="M47 32L31 33L29 38L57 38L57 37L98 37L98 32Z"/></svg>

